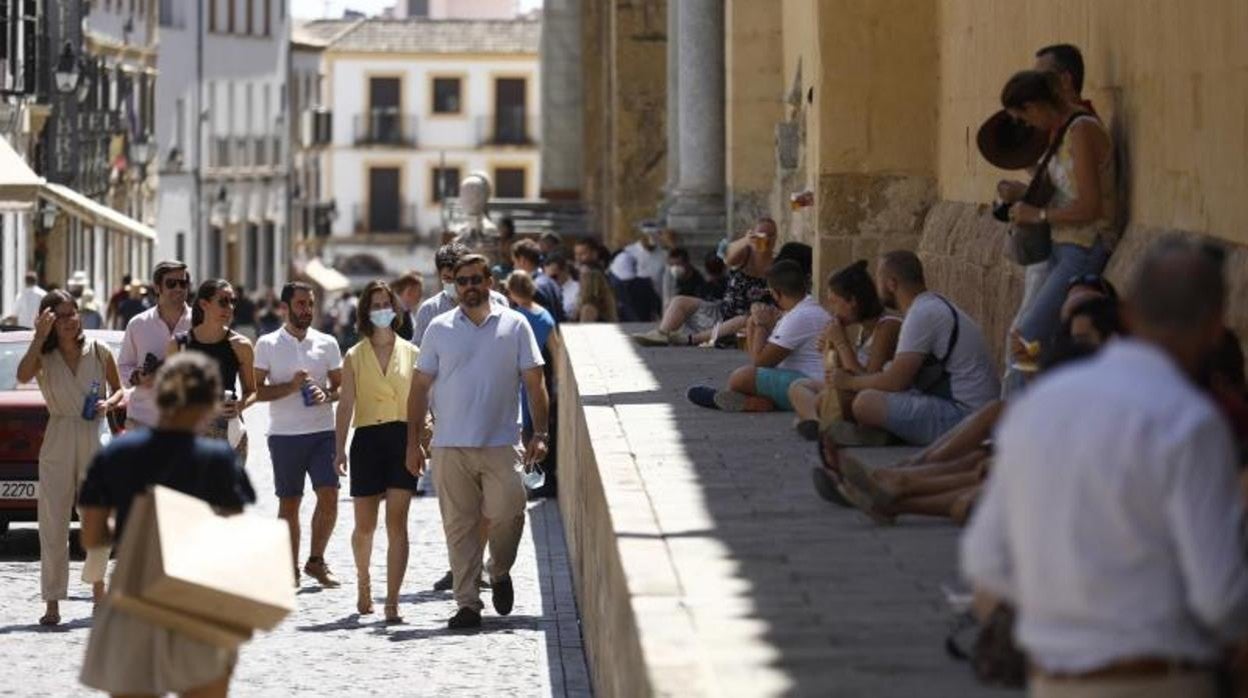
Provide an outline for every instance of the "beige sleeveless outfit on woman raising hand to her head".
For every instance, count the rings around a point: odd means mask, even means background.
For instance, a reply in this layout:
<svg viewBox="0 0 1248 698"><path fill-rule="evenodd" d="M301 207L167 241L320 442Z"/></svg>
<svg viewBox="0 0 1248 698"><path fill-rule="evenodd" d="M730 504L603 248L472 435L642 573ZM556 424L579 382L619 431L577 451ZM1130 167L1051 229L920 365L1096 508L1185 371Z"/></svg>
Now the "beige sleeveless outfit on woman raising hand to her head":
<svg viewBox="0 0 1248 698"><path fill-rule="evenodd" d="M77 375L70 371L60 351L42 355L37 381L49 413L44 446L39 450L39 572L44 601L69 596L70 516L77 503L79 484L100 450L104 418L101 413L95 421L84 420L82 402L92 381L100 381L101 398L109 395L104 370L109 353L109 347L87 340Z"/></svg>

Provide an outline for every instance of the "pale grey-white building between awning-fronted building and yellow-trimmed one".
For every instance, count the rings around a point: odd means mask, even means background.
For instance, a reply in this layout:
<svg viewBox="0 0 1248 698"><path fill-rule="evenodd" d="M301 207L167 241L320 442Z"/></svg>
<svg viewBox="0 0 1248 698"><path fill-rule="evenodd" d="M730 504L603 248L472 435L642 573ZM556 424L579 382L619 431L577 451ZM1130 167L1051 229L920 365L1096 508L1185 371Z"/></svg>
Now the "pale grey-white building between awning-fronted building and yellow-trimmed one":
<svg viewBox="0 0 1248 698"><path fill-rule="evenodd" d="M288 0L162 0L162 248L247 290L290 268Z"/></svg>

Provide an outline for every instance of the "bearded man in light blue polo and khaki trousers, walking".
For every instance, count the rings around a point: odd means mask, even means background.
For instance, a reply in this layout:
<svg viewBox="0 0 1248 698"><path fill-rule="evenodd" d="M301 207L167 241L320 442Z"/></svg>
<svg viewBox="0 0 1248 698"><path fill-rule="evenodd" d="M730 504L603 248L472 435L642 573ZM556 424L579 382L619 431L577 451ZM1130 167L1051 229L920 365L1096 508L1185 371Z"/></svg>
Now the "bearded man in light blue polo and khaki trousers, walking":
<svg viewBox="0 0 1248 698"><path fill-rule="evenodd" d="M494 611L512 612L510 569L524 531L524 486L515 472L520 381L529 396L533 437L525 467L545 458L549 402L542 351L524 316L489 302L489 262L480 255L454 266L459 308L429 323L408 393L407 467L424 469L421 450L433 392L433 477L447 536L456 604L452 629L480 627L482 519L489 519Z"/></svg>

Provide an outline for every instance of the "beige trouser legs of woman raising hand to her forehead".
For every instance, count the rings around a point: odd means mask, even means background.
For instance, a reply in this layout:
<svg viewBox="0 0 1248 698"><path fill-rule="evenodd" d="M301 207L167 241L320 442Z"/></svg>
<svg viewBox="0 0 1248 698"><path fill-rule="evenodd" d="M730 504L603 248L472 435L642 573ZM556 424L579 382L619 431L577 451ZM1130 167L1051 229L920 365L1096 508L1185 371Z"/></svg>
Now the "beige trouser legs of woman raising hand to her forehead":
<svg viewBox="0 0 1248 698"><path fill-rule="evenodd" d="M100 425L82 417L47 420L39 452L39 581L44 601L62 601L70 583L70 518L79 484L100 450Z"/></svg>

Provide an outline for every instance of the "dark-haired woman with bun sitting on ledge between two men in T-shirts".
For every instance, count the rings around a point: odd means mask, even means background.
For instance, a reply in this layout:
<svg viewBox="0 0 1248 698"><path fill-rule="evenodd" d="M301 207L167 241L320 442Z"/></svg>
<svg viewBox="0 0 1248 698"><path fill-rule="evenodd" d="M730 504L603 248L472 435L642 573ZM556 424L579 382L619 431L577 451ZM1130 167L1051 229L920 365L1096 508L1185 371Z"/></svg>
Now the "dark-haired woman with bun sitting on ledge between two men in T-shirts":
<svg viewBox="0 0 1248 698"><path fill-rule="evenodd" d="M901 317L885 311L867 261L859 260L827 277L827 305L832 321L824 332L824 363L829 371L840 366L854 375L879 373L892 361L901 332ZM849 327L856 326L850 342ZM825 381L802 378L789 387L789 402L797 413L797 433L809 441L824 427L850 413L854 393L829 390Z"/></svg>

